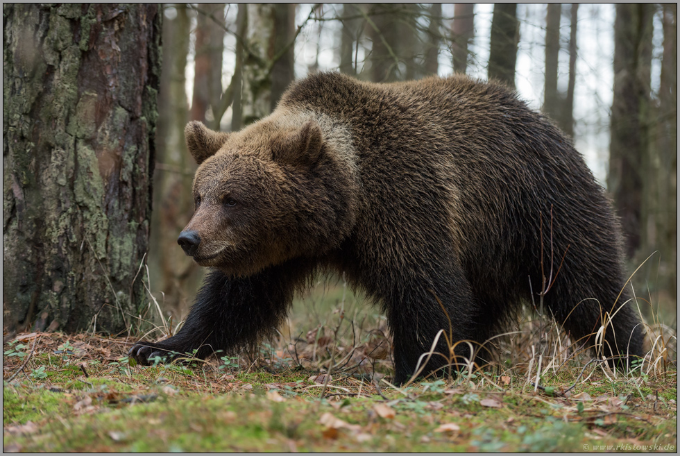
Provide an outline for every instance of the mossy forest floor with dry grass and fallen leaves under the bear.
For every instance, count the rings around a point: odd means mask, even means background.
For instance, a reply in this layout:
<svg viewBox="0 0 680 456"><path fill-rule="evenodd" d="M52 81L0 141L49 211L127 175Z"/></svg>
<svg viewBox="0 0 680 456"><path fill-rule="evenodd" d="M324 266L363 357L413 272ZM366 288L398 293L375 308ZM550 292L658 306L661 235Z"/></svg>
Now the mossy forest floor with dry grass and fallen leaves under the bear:
<svg viewBox="0 0 680 456"><path fill-rule="evenodd" d="M677 452L674 331L622 373L529 321L498 364L393 387L384 320L350 313L343 298L260 353L147 367L132 337L9 336L3 452Z"/></svg>

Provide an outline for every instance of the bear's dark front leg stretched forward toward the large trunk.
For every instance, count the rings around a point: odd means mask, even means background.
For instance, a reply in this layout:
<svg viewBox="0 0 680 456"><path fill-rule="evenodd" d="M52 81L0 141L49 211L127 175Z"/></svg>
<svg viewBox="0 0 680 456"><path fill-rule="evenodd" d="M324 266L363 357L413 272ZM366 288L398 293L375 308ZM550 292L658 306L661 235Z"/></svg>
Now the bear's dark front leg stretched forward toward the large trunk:
<svg viewBox="0 0 680 456"><path fill-rule="evenodd" d="M230 278L214 269L196 295L187 321L164 341L138 341L128 355L139 364L155 357L171 360L189 355L205 358L216 351L233 352L269 335L284 319L297 285L309 268L287 262L245 278Z"/></svg>

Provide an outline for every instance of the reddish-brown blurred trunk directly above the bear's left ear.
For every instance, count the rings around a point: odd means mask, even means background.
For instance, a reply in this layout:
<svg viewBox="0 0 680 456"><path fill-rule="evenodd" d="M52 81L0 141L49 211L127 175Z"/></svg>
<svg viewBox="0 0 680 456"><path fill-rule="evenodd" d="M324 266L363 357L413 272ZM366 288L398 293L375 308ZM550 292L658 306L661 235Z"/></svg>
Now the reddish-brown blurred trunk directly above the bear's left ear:
<svg viewBox="0 0 680 456"><path fill-rule="evenodd" d="M219 130L220 119L217 117L219 117L219 101L222 96L224 3L198 3L196 8L198 8L198 17L196 18L196 57L194 58L191 119L200 120L212 130ZM188 32L185 38L178 37L177 39L188 40ZM209 116L206 117L206 115Z"/></svg>

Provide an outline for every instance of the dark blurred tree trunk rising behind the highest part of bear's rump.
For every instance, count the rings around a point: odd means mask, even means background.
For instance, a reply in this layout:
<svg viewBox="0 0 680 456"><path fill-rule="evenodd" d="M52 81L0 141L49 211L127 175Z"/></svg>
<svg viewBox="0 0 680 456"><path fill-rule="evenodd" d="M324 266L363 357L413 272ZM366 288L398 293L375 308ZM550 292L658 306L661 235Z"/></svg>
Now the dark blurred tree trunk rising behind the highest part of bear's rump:
<svg viewBox="0 0 680 456"><path fill-rule="evenodd" d="M491 18L491 44L488 56L488 78L515 87L515 62L520 39L517 3L495 3Z"/></svg>

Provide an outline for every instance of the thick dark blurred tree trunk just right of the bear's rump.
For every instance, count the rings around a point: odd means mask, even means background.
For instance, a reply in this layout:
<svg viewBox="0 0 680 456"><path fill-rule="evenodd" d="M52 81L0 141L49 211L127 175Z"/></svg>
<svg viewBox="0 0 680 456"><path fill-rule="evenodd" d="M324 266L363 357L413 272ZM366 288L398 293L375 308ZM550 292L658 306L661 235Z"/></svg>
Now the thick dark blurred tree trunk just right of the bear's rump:
<svg viewBox="0 0 680 456"><path fill-rule="evenodd" d="M651 4L616 6L607 187L621 217L629 257L640 247L643 157L649 148L653 16Z"/></svg>

